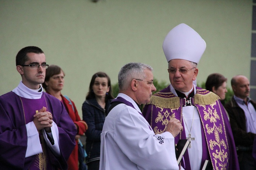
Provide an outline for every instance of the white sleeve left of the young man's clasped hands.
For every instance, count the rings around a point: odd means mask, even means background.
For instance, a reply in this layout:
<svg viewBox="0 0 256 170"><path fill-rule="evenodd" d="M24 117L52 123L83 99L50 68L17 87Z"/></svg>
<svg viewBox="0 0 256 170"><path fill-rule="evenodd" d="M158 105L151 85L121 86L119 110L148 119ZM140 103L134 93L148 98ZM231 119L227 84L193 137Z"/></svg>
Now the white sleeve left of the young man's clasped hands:
<svg viewBox="0 0 256 170"><path fill-rule="evenodd" d="M39 133L37 132L34 122L26 124L26 129L28 134L28 147L25 157L42 153L43 150L39 139Z"/></svg>

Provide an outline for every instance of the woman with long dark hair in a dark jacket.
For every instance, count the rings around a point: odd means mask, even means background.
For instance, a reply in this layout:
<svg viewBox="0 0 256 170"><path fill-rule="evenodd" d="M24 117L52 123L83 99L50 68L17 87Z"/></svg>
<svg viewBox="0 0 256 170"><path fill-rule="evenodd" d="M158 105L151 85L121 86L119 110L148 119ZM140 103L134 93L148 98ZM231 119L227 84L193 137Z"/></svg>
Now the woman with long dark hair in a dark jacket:
<svg viewBox="0 0 256 170"><path fill-rule="evenodd" d="M92 75L89 92L82 106L83 120L88 125L85 133L88 170L99 169L100 133L113 98L109 76L104 72Z"/></svg>

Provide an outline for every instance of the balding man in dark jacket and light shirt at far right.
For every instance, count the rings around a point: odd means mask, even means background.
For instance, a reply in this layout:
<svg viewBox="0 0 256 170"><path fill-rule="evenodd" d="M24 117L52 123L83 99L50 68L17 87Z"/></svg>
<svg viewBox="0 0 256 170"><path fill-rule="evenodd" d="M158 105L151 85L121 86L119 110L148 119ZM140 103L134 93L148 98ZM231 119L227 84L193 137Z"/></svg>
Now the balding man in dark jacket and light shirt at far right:
<svg viewBox="0 0 256 170"><path fill-rule="evenodd" d="M252 149L256 136L256 103L250 95L250 82L243 75L236 75L231 80L234 96L225 105L230 114L240 169L256 170Z"/></svg>

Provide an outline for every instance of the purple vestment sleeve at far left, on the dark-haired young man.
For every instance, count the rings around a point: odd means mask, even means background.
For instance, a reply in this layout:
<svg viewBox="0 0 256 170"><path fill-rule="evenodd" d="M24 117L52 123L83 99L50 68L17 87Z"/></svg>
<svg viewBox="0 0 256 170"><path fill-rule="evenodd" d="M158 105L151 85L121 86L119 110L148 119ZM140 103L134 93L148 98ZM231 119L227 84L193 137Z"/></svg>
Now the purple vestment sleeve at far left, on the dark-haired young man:
<svg viewBox="0 0 256 170"><path fill-rule="evenodd" d="M28 169L33 156L26 158L28 134L18 95L0 96L0 169Z"/></svg>

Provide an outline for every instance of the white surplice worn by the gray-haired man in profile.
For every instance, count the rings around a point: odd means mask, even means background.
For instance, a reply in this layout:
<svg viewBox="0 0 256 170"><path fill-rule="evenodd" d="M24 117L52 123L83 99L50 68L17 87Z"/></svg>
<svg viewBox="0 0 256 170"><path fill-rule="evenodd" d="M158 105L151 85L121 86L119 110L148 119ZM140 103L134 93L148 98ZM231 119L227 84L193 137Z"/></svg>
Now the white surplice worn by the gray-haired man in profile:
<svg viewBox="0 0 256 170"><path fill-rule="evenodd" d="M100 170L178 170L174 138L171 133L155 135L129 96L119 93L133 104L118 104L107 115L101 133ZM160 144L157 138L164 137Z"/></svg>

